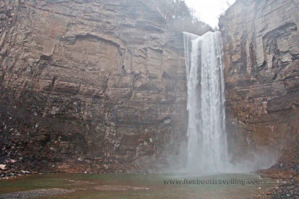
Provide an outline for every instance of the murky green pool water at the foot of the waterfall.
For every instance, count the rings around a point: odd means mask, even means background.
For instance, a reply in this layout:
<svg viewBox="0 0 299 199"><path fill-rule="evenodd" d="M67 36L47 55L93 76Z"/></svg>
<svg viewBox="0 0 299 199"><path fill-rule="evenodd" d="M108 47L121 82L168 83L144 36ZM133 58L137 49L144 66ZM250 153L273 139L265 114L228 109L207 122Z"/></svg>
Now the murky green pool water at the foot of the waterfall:
<svg viewBox="0 0 299 199"><path fill-rule="evenodd" d="M164 180L262 180L262 184L165 184ZM0 180L0 193L63 188L75 192L46 198L246 198L276 186L276 180L251 174L190 176L187 174L40 174ZM112 188L111 188L111 187ZM116 191L113 187L129 187ZM98 190L110 187L111 190ZM258 189L261 187L262 189Z"/></svg>

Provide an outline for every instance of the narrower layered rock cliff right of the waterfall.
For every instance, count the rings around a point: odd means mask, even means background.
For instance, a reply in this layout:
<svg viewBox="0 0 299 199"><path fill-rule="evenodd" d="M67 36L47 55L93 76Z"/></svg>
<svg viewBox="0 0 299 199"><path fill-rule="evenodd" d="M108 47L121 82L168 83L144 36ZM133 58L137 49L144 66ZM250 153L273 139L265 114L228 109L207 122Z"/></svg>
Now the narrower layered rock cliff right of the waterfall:
<svg viewBox="0 0 299 199"><path fill-rule="evenodd" d="M299 1L239 0L220 19L227 133L237 155L298 141L298 25ZM293 169L294 161L288 165Z"/></svg>

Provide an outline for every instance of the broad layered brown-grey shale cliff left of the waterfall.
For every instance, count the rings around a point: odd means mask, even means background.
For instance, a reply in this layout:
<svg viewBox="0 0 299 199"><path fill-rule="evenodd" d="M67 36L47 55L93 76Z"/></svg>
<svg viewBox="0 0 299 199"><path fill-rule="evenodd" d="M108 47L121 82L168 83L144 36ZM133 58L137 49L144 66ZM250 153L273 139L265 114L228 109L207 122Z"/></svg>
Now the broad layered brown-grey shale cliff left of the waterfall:
<svg viewBox="0 0 299 199"><path fill-rule="evenodd" d="M187 130L182 39L141 1L0 1L0 159L61 172L167 166Z"/></svg>

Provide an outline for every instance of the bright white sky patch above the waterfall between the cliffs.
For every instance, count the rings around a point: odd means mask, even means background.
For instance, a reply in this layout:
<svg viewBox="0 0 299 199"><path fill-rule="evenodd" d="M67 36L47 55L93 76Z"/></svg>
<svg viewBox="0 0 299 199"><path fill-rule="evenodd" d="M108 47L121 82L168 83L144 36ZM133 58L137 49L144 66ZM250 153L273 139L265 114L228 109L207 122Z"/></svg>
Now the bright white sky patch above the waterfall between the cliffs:
<svg viewBox="0 0 299 199"><path fill-rule="evenodd" d="M228 0L232 5L236 0ZM218 27L218 17L224 10L228 8L226 0L185 0L189 7L193 7L200 19L210 26Z"/></svg>

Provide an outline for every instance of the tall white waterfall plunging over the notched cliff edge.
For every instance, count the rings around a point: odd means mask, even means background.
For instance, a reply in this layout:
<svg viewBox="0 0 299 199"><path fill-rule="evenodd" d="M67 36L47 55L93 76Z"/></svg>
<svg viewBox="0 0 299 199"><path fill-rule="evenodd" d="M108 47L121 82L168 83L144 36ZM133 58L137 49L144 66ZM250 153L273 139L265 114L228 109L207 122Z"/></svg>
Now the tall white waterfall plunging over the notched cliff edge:
<svg viewBox="0 0 299 199"><path fill-rule="evenodd" d="M187 171L225 172L223 46L220 32L197 36L184 32L189 112Z"/></svg>

